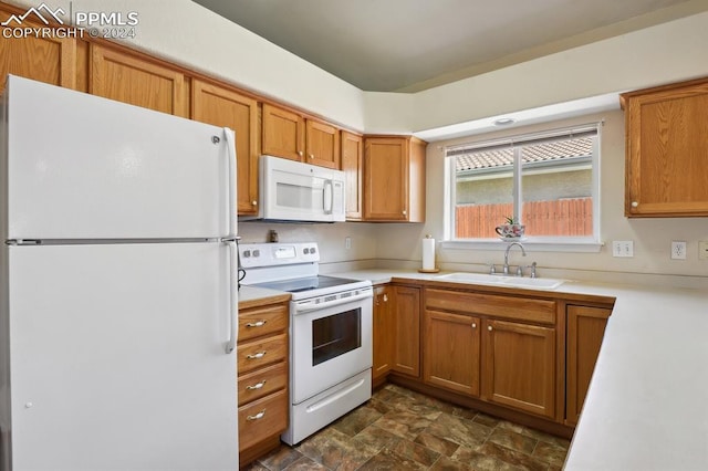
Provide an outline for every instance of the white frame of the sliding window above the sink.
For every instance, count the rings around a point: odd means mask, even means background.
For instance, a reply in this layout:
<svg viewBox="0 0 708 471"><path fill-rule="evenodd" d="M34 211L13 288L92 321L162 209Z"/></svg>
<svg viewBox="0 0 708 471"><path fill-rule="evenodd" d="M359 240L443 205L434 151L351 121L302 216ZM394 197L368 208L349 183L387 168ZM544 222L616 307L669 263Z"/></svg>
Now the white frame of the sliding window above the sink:
<svg viewBox="0 0 708 471"><path fill-rule="evenodd" d="M470 238L470 239L457 239L454 237L455 231L455 210L456 210L456 166L455 155L449 155L450 151L459 150L461 148L475 150L482 148L490 148L497 146L511 146L514 148L513 160L513 217L518 218L522 208L522 188L521 179L522 161L519 158L521 146L527 144L533 144L533 142L541 142L544 139L555 140L558 137L566 136L572 138L573 134L585 133L589 130L595 132L595 138L593 140L593 149L591 157L592 165L592 201L593 201L593 236L577 237L577 236L560 236L560 237L533 237L529 236L523 240L525 247L532 247L537 251L549 252L600 252L603 247L601 240L601 143L602 143L602 126L604 122L593 122L582 125L575 125L571 127L548 128L528 134L510 135L496 139L482 139L479 142L468 142L465 144L456 144L449 147L445 147L445 166L444 166L444 211L442 211L442 241L444 248L450 249L475 249L475 250L498 250L504 248L507 242L494 238ZM521 191L520 191L521 190ZM523 221L522 221L523 222Z"/></svg>

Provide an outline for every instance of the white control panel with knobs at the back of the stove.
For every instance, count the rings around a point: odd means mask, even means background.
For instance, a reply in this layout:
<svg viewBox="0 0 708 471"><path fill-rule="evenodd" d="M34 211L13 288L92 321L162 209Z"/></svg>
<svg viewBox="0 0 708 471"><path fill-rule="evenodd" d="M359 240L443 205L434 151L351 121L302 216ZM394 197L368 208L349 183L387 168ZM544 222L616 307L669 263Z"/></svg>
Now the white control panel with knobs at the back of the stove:
<svg viewBox="0 0 708 471"><path fill-rule="evenodd" d="M292 265L320 261L316 242L240 243L242 268Z"/></svg>

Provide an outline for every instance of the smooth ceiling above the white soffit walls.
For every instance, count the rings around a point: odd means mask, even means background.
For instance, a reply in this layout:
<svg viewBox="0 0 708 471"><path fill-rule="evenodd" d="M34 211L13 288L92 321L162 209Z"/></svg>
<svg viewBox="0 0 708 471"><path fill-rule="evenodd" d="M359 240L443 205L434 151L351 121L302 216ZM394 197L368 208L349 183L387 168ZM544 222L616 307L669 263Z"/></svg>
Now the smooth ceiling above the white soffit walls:
<svg viewBox="0 0 708 471"><path fill-rule="evenodd" d="M706 0L194 1L372 92L418 92L708 10Z"/></svg>

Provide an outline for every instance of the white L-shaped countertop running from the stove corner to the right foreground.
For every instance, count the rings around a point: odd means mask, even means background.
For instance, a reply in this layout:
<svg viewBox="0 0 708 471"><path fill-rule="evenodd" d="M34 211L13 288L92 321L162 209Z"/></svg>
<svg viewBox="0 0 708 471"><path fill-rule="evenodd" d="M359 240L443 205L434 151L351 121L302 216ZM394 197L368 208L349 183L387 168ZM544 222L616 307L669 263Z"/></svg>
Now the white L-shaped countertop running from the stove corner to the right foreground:
<svg viewBox="0 0 708 471"><path fill-rule="evenodd" d="M331 274L374 284L438 275ZM564 469L708 469L708 292L589 282L552 292L616 299Z"/></svg>

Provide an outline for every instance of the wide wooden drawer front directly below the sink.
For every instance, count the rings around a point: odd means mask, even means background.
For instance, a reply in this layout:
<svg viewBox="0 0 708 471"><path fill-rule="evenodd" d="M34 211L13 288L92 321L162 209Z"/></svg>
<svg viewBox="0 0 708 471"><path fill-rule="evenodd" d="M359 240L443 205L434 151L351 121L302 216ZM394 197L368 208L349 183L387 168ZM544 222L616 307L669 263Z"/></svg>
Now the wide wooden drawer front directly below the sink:
<svg viewBox="0 0 708 471"><path fill-rule="evenodd" d="M425 291L425 305L427 308L441 311L555 324L555 301L550 300L529 300L496 294L427 289Z"/></svg>

